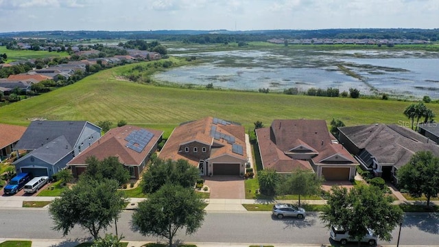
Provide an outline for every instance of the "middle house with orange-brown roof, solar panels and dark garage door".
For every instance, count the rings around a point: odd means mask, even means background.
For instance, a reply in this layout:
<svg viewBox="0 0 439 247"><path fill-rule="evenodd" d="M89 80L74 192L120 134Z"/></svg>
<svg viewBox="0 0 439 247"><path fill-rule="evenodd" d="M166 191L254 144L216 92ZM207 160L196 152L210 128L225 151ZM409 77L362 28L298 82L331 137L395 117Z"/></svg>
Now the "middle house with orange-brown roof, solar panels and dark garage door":
<svg viewBox="0 0 439 247"><path fill-rule="evenodd" d="M248 162L244 126L215 117L180 124L158 158L187 160L200 175L242 175Z"/></svg>

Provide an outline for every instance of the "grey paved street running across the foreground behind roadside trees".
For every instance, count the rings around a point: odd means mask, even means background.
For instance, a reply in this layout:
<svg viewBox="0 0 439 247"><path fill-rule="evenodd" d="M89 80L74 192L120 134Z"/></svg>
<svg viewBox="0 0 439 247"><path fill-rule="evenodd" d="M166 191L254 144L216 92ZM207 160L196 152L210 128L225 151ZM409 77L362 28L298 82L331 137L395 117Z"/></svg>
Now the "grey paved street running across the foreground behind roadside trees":
<svg viewBox="0 0 439 247"><path fill-rule="evenodd" d="M124 211L117 224L125 240L157 241L130 229L132 211ZM82 239L89 236L74 228L67 237L52 231L48 211L44 209L0 209L0 237L34 239ZM114 233L114 229L108 231ZM398 229L392 233L396 244ZM272 243L272 244L329 244L329 231L324 228L316 213L305 220L272 219L269 212L259 213L208 213L202 228L191 236L178 236L185 242ZM405 216L401 230L401 245L436 245L439 239L439 214L410 214Z"/></svg>

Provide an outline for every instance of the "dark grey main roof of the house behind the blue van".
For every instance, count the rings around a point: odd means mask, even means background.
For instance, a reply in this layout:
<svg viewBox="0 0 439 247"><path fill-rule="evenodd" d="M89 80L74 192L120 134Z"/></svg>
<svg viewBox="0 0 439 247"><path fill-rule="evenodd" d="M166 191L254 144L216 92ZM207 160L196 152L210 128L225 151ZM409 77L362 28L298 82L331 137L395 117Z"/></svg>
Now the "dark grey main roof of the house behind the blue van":
<svg viewBox="0 0 439 247"><path fill-rule="evenodd" d="M67 143L73 147L86 123L86 121L32 121L14 150L36 150L60 136L64 136Z"/></svg>

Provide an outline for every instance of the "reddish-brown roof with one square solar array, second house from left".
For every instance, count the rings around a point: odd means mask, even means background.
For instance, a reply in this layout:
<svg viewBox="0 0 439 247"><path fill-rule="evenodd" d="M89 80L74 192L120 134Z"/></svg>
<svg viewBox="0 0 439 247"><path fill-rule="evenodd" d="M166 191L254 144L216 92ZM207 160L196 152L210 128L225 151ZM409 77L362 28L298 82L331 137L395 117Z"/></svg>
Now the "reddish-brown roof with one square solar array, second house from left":
<svg viewBox="0 0 439 247"><path fill-rule="evenodd" d="M126 141L125 138L128 137L133 130L142 129L151 132L154 134L154 137L152 137L150 142L147 143L140 153L127 148L128 141ZM90 148L87 148L84 152L73 158L73 160L69 162L69 165L84 165L88 156L95 156L99 161L109 156L117 156L119 162L123 165L140 165L145 157L150 154L150 150L154 147L156 142L161 139L162 135L163 131L161 130L151 130L130 125L112 128L106 132L99 141L93 143Z"/></svg>

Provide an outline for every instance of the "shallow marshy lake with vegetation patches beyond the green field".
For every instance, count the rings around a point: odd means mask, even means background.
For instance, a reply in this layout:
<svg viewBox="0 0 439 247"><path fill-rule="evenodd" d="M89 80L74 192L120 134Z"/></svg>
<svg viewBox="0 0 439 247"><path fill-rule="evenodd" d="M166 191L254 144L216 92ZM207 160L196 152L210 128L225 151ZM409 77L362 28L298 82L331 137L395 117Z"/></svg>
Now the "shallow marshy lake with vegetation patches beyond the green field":
<svg viewBox="0 0 439 247"><path fill-rule="evenodd" d="M215 88L283 91L292 87L342 91L359 89L364 95L386 93L400 98L439 99L439 53L429 51L268 49L213 51L195 56L202 64L158 73L153 79ZM357 75L348 75L344 67ZM358 79L360 78L360 79Z"/></svg>

